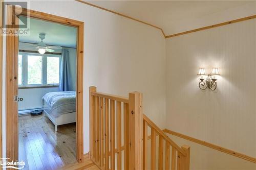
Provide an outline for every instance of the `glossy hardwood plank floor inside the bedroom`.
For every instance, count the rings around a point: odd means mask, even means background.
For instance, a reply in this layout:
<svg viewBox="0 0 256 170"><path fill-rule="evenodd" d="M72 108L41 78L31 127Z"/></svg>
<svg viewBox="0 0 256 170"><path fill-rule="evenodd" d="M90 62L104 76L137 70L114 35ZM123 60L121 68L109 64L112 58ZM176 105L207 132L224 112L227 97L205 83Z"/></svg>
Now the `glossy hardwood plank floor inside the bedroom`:
<svg viewBox="0 0 256 170"><path fill-rule="evenodd" d="M19 160L24 169L57 169L76 163L76 125L58 126L54 132L51 120L42 115L18 116Z"/></svg>

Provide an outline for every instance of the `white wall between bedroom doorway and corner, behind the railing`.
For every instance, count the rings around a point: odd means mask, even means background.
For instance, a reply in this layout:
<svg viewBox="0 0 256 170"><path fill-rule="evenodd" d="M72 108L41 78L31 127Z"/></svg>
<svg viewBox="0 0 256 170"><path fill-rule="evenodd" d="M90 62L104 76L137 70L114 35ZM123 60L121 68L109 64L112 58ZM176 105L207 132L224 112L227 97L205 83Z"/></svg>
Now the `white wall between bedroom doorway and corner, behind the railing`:
<svg viewBox="0 0 256 170"><path fill-rule="evenodd" d="M89 151L91 85L124 96L142 92L144 113L164 127L165 39L160 30L75 1L31 1L30 8L85 23L84 153Z"/></svg>

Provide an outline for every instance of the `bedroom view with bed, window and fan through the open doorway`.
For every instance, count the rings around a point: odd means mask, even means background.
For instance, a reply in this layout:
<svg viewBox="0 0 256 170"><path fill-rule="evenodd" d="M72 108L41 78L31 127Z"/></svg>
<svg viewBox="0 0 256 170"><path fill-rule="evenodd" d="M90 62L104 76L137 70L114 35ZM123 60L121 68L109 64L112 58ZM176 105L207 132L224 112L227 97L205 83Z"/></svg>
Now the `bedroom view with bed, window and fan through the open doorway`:
<svg viewBox="0 0 256 170"><path fill-rule="evenodd" d="M77 33L34 18L30 29L19 36L19 160L28 162L25 169L55 169L76 162Z"/></svg>

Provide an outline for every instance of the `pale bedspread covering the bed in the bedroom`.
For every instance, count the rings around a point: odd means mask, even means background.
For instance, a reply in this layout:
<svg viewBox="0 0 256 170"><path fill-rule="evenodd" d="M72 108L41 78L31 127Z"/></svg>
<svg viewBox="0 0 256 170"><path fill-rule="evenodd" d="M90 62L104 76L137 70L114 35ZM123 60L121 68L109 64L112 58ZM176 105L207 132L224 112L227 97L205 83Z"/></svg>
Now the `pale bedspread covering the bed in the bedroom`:
<svg viewBox="0 0 256 170"><path fill-rule="evenodd" d="M76 92L57 91L46 93L42 100L48 105L45 110L54 117L76 111ZM48 108L50 107L50 108Z"/></svg>

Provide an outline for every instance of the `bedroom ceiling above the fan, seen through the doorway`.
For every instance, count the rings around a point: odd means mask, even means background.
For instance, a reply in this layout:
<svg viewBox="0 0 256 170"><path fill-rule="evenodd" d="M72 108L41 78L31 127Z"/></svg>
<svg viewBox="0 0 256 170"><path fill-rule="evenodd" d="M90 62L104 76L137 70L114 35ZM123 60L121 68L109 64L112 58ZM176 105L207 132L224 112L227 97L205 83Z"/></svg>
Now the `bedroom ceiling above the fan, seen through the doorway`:
<svg viewBox="0 0 256 170"><path fill-rule="evenodd" d="M20 35L19 42L38 43L39 33L45 33L47 45L76 47L76 28L30 18L29 35Z"/></svg>

